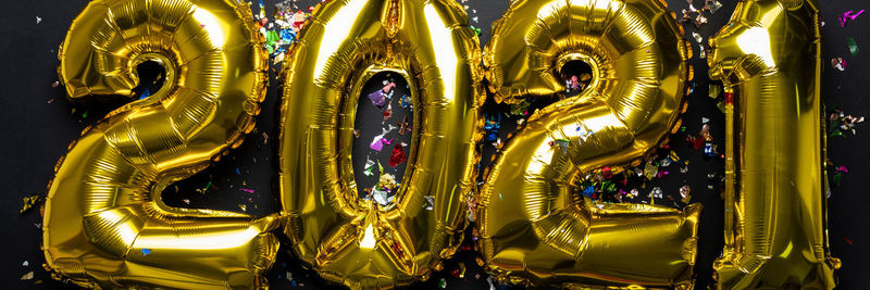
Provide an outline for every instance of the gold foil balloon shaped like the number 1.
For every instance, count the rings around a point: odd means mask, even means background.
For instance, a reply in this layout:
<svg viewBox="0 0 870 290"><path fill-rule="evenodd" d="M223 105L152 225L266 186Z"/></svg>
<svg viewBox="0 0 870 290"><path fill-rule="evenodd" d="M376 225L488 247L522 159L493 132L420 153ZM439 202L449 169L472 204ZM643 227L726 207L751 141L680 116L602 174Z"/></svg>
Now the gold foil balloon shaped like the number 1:
<svg viewBox="0 0 870 290"><path fill-rule="evenodd" d="M745 1L710 39L725 85L720 289L832 289L816 1Z"/></svg>

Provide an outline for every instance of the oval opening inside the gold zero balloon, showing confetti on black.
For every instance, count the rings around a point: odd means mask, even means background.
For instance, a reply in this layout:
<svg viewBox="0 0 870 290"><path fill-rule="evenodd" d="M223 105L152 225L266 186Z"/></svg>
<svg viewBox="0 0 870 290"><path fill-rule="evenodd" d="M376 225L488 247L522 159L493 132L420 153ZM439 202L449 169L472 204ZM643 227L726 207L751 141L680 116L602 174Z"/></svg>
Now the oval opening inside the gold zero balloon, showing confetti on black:
<svg viewBox="0 0 870 290"><path fill-rule="evenodd" d="M351 152L360 199L387 206L396 198L411 153L411 99L408 80L397 73L377 73L363 85Z"/></svg>

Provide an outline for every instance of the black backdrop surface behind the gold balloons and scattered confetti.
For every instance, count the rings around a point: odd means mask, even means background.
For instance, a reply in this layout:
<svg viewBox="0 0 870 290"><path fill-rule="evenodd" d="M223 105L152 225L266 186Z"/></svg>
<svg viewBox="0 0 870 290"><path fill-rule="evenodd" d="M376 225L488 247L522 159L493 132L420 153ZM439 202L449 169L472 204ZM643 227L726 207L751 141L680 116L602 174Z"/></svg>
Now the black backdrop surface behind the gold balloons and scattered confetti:
<svg viewBox="0 0 870 290"><path fill-rule="evenodd" d="M701 0L697 7L703 5ZM266 2L266 14L271 15L272 3ZM687 8L685 0L669 0L671 10L678 12ZM870 4L866 1L820 1L821 21L825 23L822 27L822 94L825 104L830 108L840 105L846 113L855 115L866 115L870 112L870 103L865 101L866 87L868 83L867 68L870 63L863 60L866 51L861 51L857 56L849 55L846 38L853 37L859 46L869 41L870 15L861 15L856 22L849 22L845 28L840 26L837 16L848 10L869 9ZM3 124L2 135L0 135L0 185L2 185L2 199L0 199L0 225L3 229L4 247L0 251L2 260L2 279L0 283L4 288L72 288L72 285L63 285L48 277L41 268L44 262L42 253L39 249L41 231L38 226L41 223L38 209L24 215L18 214L22 207L22 198L32 194L45 194L46 185L52 178L53 167L58 159L67 150L67 144L75 140L82 129L87 125L94 124L107 112L104 109L76 108L69 103L64 98L61 87L52 87L57 78L55 67L57 48L63 40L66 29L76 14L86 5L84 0L29 0L29 1L4 1L0 9L0 124ZM306 9L313 2L300 1L300 9ZM691 31L698 31L706 40L719 30L730 17L736 1L723 0L723 4L716 14L709 15L709 24L696 29L693 25L686 24L686 35L691 39ZM482 28L481 43L486 43L489 38L490 24L500 17L507 9L508 1L482 1L470 0L463 4L468 5L471 17L476 16L477 22L470 21L470 24ZM253 4L254 11L257 5ZM41 23L37 24L36 18L41 17ZM862 42L863 41L863 42ZM867 46L870 49L870 46ZM722 146L724 139L723 124L724 117L716 108L716 101L707 97L707 64L706 60L698 58L698 47L695 43L695 51L692 63L695 67L695 92L687 97L689 109L683 115L686 133L697 135L701 126L701 117L710 118L711 130L716 143ZM829 65L831 58L842 56L847 61L845 72L832 70ZM277 67L277 66L276 66ZM274 72L272 72L274 76ZM210 207L220 210L241 211L238 204L246 204L247 213L264 215L277 211L277 202L273 194L274 154L273 148L274 128L276 126L277 104L279 94L277 90L278 81L273 78L265 102L263 112L258 117L258 131L249 135L241 148L235 150L231 157L224 159L220 163L210 167L206 172L198 174L187 180L179 182L176 192L175 187L164 192L164 200L177 206ZM397 92L397 94L399 94ZM398 96L400 97L400 94ZM362 97L364 98L364 97ZM53 102L48 103L49 100ZM368 102L361 99L361 102ZM371 103L369 103L371 104ZM71 113L73 109L75 113ZM394 110L396 110L394 103ZM507 110L506 106L497 105L487 100L484 106L487 113L498 113ZM358 118L370 118L366 124L358 123L358 128L366 137L362 146L368 146L370 136L380 134L380 122L383 117L380 112L364 111ZM83 117L83 112L88 112L87 117ZM396 117L390 122L397 121ZM509 125L515 119L508 119L504 123L500 134L505 136L513 126ZM831 251L834 256L843 261L843 268L836 274L840 278L841 289L863 289L868 278L866 273L870 266L863 264L865 259L870 257L870 235L868 235L867 220L870 217L870 197L868 197L865 186L870 166L870 160L866 151L868 137L862 131L862 124L858 126L857 136L845 138L829 139L829 156L835 165L846 165L849 173L843 178L840 187L832 188L832 197L829 199L829 232ZM264 143L264 136L269 136ZM696 282L698 289L707 288L711 285L710 265L716 259L722 247L722 200L716 190L707 188L710 182L708 174L722 172L722 162L717 159L706 159L703 152L692 149L681 141L684 136L678 134L671 138L671 148L678 152L682 159L691 161L689 171L685 174L672 168L671 174L660 180L648 184L647 189L642 190L646 196L649 188L659 186L666 194L679 197L678 189L684 182L692 186L693 202L701 202L705 205L699 228L698 259L695 268ZM388 149L385 154L388 157ZM355 149L355 153L358 149ZM488 161L494 148L488 144L482 146L483 160ZM358 160L362 159L362 163ZM355 166L364 164L364 156L355 155ZM486 164L483 164L484 166ZM386 166L386 165L385 165ZM360 174L358 171L357 178ZM829 169L830 171L830 169ZM212 181L214 188L207 194L196 192L196 189L203 188ZM256 190L253 194L237 190L244 187ZM182 200L189 200L186 205ZM678 198L679 200L679 198ZM660 202L657 202L657 204ZM682 206L683 204L673 202L661 202L664 205ZM465 242L469 242L469 236ZM286 242L286 240L284 241ZM285 248L282 248L286 250ZM445 278L448 288L469 288L486 289L486 274L476 266L474 262L475 252L471 250L459 251L455 259L445 263L445 270L436 273L428 281L415 286L424 288L436 288L438 280ZM28 261L29 266L22 263ZM450 272L457 268L458 263L468 266L464 278L453 278ZM35 272L32 280L21 280L22 275ZM287 279L287 273L293 273L293 282ZM475 275L480 274L480 278ZM306 270L300 266L298 260L293 259L285 251L278 256L272 270L268 274L271 286L274 289L285 289L295 286L325 288L334 287L316 277L316 274ZM39 283L37 283L39 281Z"/></svg>

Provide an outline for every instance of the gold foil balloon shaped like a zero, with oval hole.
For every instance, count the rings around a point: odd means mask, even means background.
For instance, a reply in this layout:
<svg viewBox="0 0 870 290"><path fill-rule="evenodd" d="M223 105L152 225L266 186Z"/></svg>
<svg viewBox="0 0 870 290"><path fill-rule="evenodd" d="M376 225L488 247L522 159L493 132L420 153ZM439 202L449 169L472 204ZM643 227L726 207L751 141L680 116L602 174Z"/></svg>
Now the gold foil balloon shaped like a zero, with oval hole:
<svg viewBox="0 0 870 290"><path fill-rule="evenodd" d="M452 0L333 0L318 7L285 59L285 234L323 278L407 285L456 251L483 96L477 38L467 25ZM359 198L350 155L359 96L378 72L406 78L414 104L408 169L388 206Z"/></svg>

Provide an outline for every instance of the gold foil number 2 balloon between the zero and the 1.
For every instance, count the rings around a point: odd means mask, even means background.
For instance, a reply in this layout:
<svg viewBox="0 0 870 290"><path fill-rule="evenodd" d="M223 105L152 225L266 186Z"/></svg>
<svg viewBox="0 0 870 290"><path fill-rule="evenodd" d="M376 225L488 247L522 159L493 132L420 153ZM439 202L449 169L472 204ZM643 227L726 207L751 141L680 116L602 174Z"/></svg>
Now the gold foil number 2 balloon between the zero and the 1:
<svg viewBox="0 0 870 290"><path fill-rule="evenodd" d="M555 98L569 61L588 63L593 76L580 96L533 114L482 186L480 247L496 276L535 286L692 287L699 204L682 212L607 204L577 188L586 174L637 160L679 126L691 54L659 1L511 2L486 48L497 100Z"/></svg>

